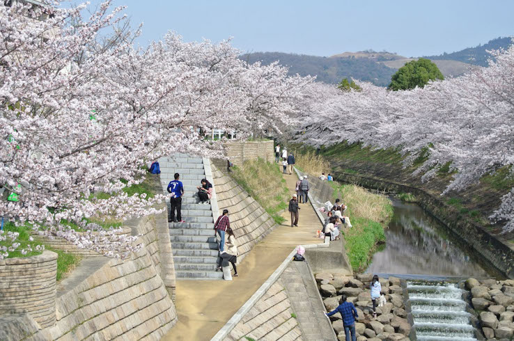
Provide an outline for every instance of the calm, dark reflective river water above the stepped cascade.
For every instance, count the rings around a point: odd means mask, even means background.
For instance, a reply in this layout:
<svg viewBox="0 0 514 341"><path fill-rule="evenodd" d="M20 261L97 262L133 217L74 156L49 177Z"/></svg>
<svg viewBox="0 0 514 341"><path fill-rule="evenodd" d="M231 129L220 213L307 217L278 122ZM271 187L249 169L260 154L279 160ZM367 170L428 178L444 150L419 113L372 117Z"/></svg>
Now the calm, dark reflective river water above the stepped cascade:
<svg viewBox="0 0 514 341"><path fill-rule="evenodd" d="M385 231L386 246L375 253L366 272L488 276L421 207L396 199L393 203L394 216Z"/></svg>

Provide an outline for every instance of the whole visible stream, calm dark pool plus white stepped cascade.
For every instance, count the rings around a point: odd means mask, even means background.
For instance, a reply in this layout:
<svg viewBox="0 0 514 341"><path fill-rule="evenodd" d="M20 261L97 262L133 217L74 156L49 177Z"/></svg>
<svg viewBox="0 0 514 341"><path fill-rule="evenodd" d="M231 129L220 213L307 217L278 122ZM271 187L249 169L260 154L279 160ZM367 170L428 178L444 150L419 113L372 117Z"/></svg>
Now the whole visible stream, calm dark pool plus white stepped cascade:
<svg viewBox="0 0 514 341"><path fill-rule="evenodd" d="M463 291L445 280L498 274L421 207L393 203L386 244L366 272L407 278L417 340L476 340Z"/></svg>

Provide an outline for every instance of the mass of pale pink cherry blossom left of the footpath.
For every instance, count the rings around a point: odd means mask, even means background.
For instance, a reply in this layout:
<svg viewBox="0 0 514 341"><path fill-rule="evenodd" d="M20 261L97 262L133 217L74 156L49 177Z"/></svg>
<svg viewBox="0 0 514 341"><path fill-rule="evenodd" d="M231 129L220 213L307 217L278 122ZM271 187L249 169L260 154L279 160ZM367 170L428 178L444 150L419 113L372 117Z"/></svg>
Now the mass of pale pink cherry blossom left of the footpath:
<svg viewBox="0 0 514 341"><path fill-rule="evenodd" d="M0 6L0 184L20 198L1 201L0 215L80 247L137 250L135 237L87 219L159 212L162 195L123 191L144 180L148 161L173 152L221 155L221 145L200 133L213 128L242 137L277 130L311 82L277 64L250 65L229 41L183 42L168 33L137 49L137 32L116 31L123 8L110 0L88 18L86 5L44 3Z"/></svg>

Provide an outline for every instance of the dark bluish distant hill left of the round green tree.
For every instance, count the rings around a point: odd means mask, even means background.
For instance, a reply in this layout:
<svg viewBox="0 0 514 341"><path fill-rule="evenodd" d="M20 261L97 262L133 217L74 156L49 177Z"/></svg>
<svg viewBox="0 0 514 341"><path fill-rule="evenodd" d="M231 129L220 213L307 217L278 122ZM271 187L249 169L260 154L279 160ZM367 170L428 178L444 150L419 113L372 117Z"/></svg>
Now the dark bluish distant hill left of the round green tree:
<svg viewBox="0 0 514 341"><path fill-rule="evenodd" d="M369 58L355 57L319 57L304 54L285 54L281 52L256 52L244 54L240 58L250 63L256 61L264 65L279 61L280 65L289 67L289 74L300 76L317 76L317 81L337 84L343 78L370 81L377 86L388 86L391 76L396 72L382 63Z"/></svg>

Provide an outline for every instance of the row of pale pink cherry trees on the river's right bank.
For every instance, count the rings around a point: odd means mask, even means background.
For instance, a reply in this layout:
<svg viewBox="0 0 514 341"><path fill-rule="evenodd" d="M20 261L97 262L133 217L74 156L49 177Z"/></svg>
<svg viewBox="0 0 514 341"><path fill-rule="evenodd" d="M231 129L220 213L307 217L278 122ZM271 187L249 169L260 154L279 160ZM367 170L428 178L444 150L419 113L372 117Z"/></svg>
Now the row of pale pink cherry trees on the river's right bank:
<svg viewBox="0 0 514 341"><path fill-rule="evenodd" d="M374 148L398 148L405 166L428 151L416 170L429 180L450 164L458 170L444 193L460 190L503 166L514 164L514 47L492 51L488 68L462 77L434 81L425 88L388 91L363 84L361 92L336 92L318 86L323 95L306 95L304 134L313 145L348 141ZM302 130L300 129L300 130ZM491 219L514 230L514 189L506 194Z"/></svg>

